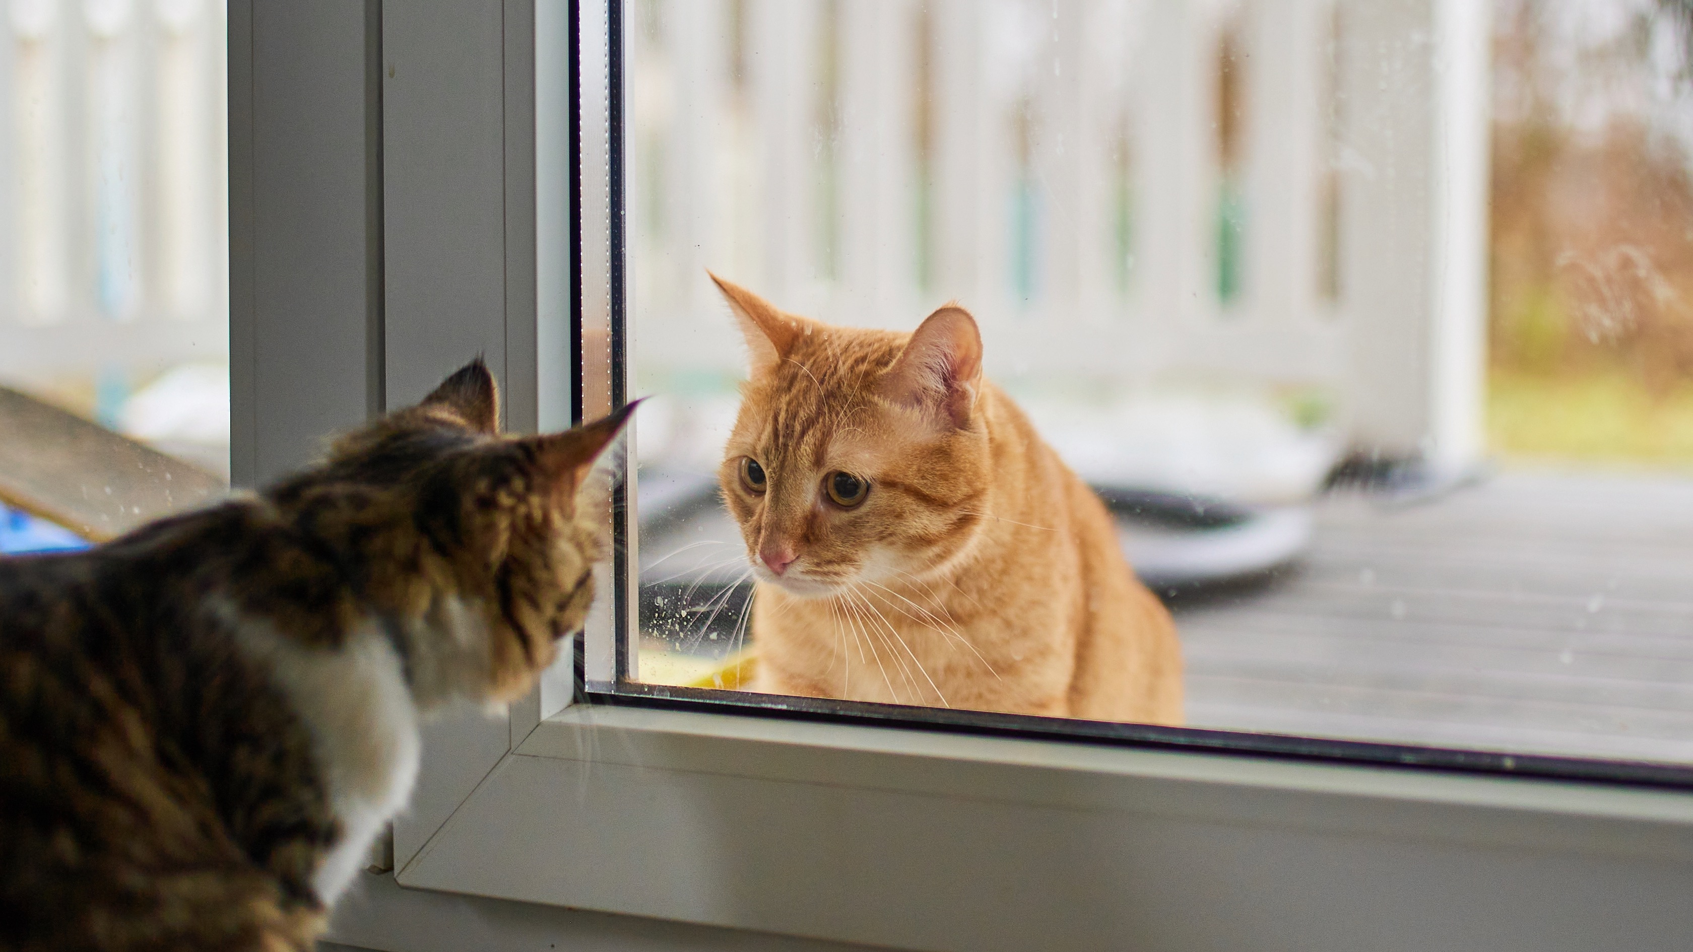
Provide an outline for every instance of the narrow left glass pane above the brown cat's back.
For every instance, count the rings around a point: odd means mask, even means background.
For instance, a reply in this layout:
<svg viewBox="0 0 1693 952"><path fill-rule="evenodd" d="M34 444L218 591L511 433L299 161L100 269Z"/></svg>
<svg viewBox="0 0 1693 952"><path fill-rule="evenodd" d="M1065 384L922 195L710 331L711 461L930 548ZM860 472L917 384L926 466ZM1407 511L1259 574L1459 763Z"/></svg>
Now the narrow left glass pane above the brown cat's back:
<svg viewBox="0 0 1693 952"><path fill-rule="evenodd" d="M225 36L222 2L5 5L0 552L229 483Z"/></svg>

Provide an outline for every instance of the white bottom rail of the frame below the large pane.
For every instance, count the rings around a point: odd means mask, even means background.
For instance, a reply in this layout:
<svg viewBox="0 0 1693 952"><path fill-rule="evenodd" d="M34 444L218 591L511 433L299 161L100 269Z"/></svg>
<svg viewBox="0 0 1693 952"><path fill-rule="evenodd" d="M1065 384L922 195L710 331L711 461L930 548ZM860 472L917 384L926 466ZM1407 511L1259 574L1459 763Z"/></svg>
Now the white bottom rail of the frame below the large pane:
<svg viewBox="0 0 1693 952"><path fill-rule="evenodd" d="M897 949L1673 949L1693 801L572 708L400 883Z"/></svg>

